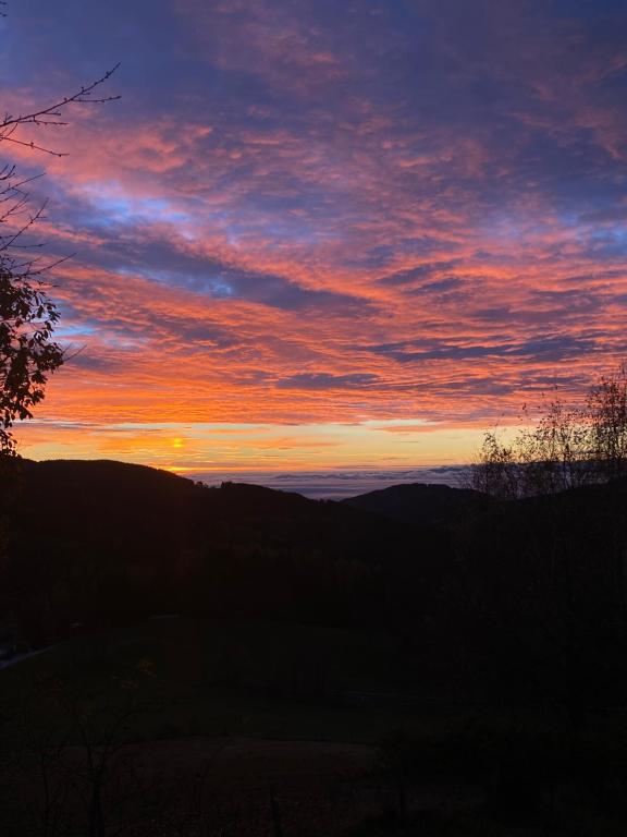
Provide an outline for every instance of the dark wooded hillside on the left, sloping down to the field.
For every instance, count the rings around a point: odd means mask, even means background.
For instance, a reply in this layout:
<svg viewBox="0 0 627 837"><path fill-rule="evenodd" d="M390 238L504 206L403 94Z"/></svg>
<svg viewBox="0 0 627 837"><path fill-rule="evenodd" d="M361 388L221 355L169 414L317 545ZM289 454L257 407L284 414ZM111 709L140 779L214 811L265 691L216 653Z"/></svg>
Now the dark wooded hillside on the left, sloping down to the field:
<svg viewBox="0 0 627 837"><path fill-rule="evenodd" d="M442 533L343 504L118 462L23 462L0 596L36 645L171 611L383 622L403 567L420 579L446 550Z"/></svg>

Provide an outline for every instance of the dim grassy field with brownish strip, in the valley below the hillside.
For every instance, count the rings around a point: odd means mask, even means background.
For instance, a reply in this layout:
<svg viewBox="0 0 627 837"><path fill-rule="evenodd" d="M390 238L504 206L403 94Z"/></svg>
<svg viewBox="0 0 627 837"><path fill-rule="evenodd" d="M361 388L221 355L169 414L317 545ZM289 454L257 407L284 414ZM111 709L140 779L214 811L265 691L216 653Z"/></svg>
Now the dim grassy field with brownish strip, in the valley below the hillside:
<svg viewBox="0 0 627 837"><path fill-rule="evenodd" d="M97 753L115 729L107 793L134 783L155 822L167 808L188 835L343 834L399 804L382 741L459 724L458 708L433 713L399 691L407 665L382 634L157 618L0 672L4 705L25 713L7 751L58 736L63 771L77 773L87 717ZM464 806L469 793L427 783L403 804Z"/></svg>

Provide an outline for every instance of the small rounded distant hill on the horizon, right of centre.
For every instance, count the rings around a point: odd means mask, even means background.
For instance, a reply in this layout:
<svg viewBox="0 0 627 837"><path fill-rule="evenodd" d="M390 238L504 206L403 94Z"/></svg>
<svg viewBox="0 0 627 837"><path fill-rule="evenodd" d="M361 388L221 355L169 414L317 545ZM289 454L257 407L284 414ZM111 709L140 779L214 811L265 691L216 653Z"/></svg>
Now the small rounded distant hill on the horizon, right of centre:
<svg viewBox="0 0 627 837"><path fill-rule="evenodd" d="M410 483L351 497L344 502L361 511L397 518L420 526L447 525L462 515L490 511L495 501L484 494L448 485Z"/></svg>

